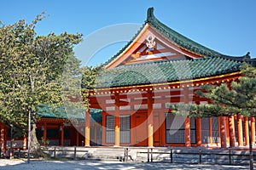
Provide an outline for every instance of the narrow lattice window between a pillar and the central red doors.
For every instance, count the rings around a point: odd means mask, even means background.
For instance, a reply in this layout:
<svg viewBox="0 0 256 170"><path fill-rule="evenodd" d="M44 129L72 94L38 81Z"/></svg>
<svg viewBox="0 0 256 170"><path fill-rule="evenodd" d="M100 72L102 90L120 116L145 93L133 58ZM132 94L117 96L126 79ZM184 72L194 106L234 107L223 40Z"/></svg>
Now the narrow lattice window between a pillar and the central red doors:
<svg viewBox="0 0 256 170"><path fill-rule="evenodd" d="M129 115L120 116L120 143L130 143L131 118Z"/></svg>

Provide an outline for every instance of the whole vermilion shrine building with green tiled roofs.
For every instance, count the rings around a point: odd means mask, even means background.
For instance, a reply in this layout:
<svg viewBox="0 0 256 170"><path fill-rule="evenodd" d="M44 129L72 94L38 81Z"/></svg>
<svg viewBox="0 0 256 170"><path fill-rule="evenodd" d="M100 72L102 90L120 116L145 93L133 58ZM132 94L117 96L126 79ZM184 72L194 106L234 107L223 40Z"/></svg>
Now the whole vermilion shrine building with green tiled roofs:
<svg viewBox="0 0 256 170"><path fill-rule="evenodd" d="M148 8L147 20L124 48L105 63L90 92L90 110L76 117L45 112L37 123L46 145L234 147L255 143L255 118L187 117L172 114L168 104L211 103L195 91L202 85L230 84L241 77L249 54L228 56L173 31ZM181 108L183 109L183 108ZM65 111L63 111L65 112ZM251 121L251 129L248 122ZM1 148L9 147L10 127L1 124ZM13 141L26 149L26 136Z"/></svg>

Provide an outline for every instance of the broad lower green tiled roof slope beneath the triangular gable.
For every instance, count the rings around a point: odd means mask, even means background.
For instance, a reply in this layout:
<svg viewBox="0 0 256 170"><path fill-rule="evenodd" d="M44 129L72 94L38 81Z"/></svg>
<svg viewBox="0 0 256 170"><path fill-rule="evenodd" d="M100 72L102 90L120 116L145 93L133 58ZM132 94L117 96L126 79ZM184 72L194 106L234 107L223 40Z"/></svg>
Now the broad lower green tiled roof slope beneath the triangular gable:
<svg viewBox="0 0 256 170"><path fill-rule="evenodd" d="M240 71L241 61L222 57L160 60L121 65L99 77L97 88L125 87L161 82L177 82Z"/></svg>

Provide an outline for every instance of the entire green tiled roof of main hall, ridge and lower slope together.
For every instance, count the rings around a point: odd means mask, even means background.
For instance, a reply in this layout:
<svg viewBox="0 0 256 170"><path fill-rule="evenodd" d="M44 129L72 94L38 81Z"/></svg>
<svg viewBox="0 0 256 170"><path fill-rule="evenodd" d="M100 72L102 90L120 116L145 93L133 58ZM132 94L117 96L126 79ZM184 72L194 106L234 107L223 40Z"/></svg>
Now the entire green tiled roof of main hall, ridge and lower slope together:
<svg viewBox="0 0 256 170"><path fill-rule="evenodd" d="M113 69L108 69L98 78L96 88L117 88L125 86L135 86L144 84L155 84L163 82L177 82L183 80L193 80L203 77L213 77L231 72L240 71L242 62L256 65L256 59L251 59L249 53L241 57L232 57L220 54L210 48L190 40L188 37L173 31L154 17L154 8L148 8L148 16L144 26L151 26L167 41L172 42L179 48L187 50L189 53L198 54L202 58L148 61L137 64L119 65ZM137 32L135 37L115 54L106 63L108 65L118 58L126 48L143 31L143 27Z"/></svg>

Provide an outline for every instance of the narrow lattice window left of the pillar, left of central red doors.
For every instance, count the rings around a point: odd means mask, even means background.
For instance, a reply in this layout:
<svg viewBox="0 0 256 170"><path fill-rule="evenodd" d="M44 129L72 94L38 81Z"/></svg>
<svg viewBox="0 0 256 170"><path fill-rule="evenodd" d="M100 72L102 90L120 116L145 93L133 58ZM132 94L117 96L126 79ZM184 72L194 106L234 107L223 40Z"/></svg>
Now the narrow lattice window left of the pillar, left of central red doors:
<svg viewBox="0 0 256 170"><path fill-rule="evenodd" d="M106 116L106 143L114 143L114 116Z"/></svg>

